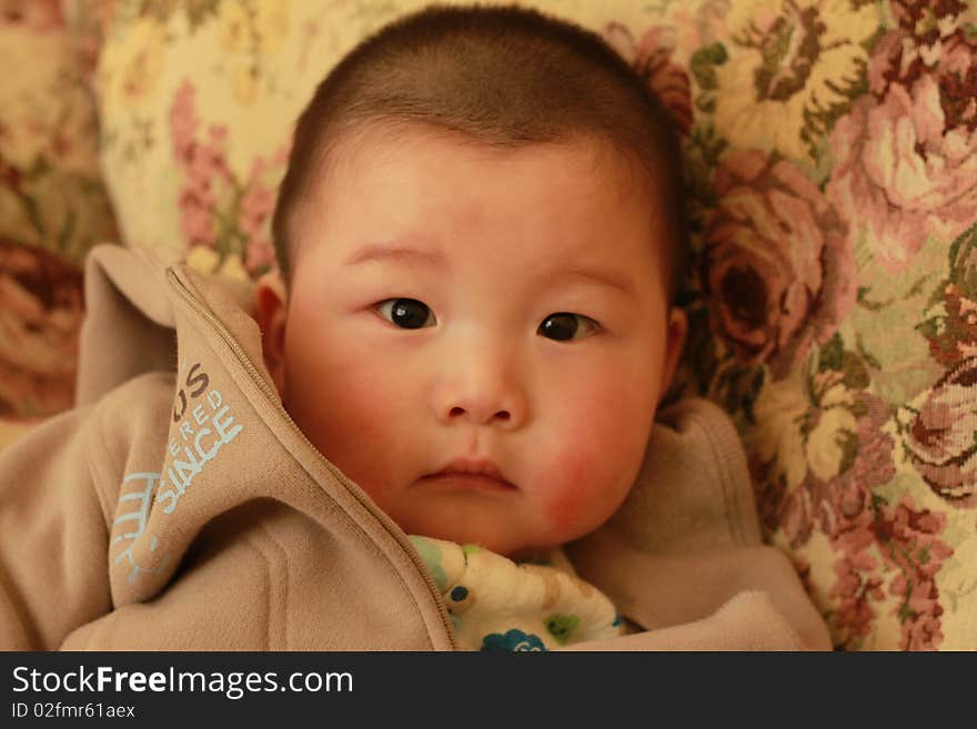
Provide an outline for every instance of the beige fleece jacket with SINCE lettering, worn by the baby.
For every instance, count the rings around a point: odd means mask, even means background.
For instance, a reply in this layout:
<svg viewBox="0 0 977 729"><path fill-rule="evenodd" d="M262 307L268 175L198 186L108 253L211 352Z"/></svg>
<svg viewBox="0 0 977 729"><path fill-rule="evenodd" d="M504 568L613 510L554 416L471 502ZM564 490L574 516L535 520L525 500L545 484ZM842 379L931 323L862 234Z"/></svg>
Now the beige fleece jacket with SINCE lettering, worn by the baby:
<svg viewBox="0 0 977 729"><path fill-rule="evenodd" d="M249 292L112 246L85 276L79 406L0 452L0 648L454 648L406 535L282 408ZM830 648L732 424L661 416L621 510L567 546L646 630L578 647Z"/></svg>

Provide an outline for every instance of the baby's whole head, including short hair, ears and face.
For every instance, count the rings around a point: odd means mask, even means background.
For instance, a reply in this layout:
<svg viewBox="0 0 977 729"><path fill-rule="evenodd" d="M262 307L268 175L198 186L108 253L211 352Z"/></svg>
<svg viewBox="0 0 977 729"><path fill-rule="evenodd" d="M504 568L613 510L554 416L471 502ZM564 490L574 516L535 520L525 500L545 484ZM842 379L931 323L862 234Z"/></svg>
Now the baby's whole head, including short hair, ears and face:
<svg viewBox="0 0 977 729"><path fill-rule="evenodd" d="M513 8L423 11L299 120L265 363L406 533L562 544L637 475L685 337L682 231L665 113L603 41Z"/></svg>

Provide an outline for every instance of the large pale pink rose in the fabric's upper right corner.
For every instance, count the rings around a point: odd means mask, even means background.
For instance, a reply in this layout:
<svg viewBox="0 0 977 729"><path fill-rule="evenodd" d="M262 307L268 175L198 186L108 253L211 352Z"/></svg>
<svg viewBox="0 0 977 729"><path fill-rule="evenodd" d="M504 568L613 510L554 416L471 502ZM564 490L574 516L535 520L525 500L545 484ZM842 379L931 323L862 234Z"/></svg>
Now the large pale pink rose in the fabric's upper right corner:
<svg viewBox="0 0 977 729"><path fill-rule="evenodd" d="M864 231L878 261L897 273L928 236L953 240L974 221L977 39L953 22L961 2L893 8L899 28L875 48L869 93L832 133L828 195L852 234Z"/></svg>

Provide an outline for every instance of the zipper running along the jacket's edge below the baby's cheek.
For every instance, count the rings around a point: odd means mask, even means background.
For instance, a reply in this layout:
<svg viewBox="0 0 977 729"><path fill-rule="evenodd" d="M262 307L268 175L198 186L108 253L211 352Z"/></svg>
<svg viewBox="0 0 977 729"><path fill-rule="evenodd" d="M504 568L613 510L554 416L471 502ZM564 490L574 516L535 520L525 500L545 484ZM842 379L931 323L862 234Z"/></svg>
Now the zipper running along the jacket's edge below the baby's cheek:
<svg viewBox="0 0 977 729"><path fill-rule="evenodd" d="M295 421L292 419L292 416L289 415L289 412L284 408L281 403L281 399L278 393L268 384L264 377L261 376L261 373L258 372L258 368L248 357L248 354L241 348L241 345L238 344L238 341L231 335L228 328L223 325L223 323L214 316L209 308L207 308L203 304L201 304L190 291L187 290L187 286L180 281L180 277L173 271L173 269L167 269L167 280L170 285L177 291L180 297L198 314L200 315L224 341L224 343L231 348L234 356L238 361L244 366L244 369L248 372L248 375L254 382L255 385L261 389L268 401L274 405L275 409L278 409L279 414L281 414L282 419L288 424L288 426L295 433L305 444L309 445L309 448L315 457L326 467L326 469L335 477L340 484L345 487L346 492L352 494L360 504L362 504L367 512L370 512L377 522L386 529L386 531L396 540L397 545L400 545L401 549L411 558L411 561L414 564L414 568L421 573L421 577L424 579L425 585L427 585L427 589L431 595L434 597L434 604L437 606L439 615L441 616L441 622L444 626L444 630L447 634L449 641L451 644L452 650L457 650L457 638L454 634L454 626L451 622L451 618L447 615L447 607L444 604L444 598L441 596L441 593L437 590L437 585L434 583L434 577L431 576L431 573L427 570L427 566L421 559L421 555L417 554L417 550L414 548L414 545L411 544L411 540L407 539L407 535L401 529L393 519L387 516L385 512L377 508L373 500L366 496L362 488L356 486L353 482L349 479L349 477L336 468L330 460L323 456L319 448L305 436Z"/></svg>

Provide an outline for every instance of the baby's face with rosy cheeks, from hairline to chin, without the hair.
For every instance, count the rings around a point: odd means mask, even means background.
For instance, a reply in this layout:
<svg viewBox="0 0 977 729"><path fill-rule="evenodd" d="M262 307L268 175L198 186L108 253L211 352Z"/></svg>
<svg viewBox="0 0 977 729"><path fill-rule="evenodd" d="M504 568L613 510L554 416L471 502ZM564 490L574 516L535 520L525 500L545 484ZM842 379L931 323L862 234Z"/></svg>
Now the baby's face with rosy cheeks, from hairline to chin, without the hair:
<svg viewBox="0 0 977 729"><path fill-rule="evenodd" d="M407 534L562 544L637 474L685 321L596 149L371 132L299 213L288 306L259 292L286 409Z"/></svg>

